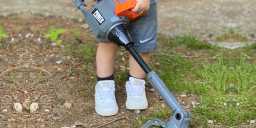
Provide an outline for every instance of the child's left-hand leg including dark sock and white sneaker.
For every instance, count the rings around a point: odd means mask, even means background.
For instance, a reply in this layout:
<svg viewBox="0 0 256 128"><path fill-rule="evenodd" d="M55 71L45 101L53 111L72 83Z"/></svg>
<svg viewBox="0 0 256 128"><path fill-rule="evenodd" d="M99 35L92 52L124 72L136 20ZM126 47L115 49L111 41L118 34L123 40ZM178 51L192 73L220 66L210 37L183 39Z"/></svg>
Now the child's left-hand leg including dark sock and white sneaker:
<svg viewBox="0 0 256 128"><path fill-rule="evenodd" d="M95 111L101 116L113 116L118 113L113 76L117 48L113 43L99 42L97 50L98 82L95 86Z"/></svg>

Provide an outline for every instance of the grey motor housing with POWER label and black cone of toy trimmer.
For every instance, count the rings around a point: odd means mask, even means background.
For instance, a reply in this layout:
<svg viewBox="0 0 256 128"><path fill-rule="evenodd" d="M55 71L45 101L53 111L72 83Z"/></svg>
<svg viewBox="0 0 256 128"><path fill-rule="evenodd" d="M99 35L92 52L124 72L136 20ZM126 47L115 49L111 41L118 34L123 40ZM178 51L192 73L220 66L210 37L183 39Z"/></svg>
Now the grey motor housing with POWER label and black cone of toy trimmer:
<svg viewBox="0 0 256 128"><path fill-rule="evenodd" d="M130 19L127 16L116 15L113 10L117 5L115 1L98 1L93 7L87 7L81 1L74 3L86 17L86 23L99 41L107 38L121 48L129 43L133 44L127 27Z"/></svg>

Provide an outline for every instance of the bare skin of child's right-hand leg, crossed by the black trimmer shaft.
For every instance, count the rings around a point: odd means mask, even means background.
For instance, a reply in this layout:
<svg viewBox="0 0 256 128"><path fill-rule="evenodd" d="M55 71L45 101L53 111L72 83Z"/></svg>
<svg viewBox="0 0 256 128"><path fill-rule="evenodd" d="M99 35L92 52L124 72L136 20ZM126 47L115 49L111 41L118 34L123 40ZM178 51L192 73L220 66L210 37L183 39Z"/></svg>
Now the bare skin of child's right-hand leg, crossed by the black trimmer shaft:
<svg viewBox="0 0 256 128"><path fill-rule="evenodd" d="M148 63L150 62L150 52L139 53L139 54L148 65ZM138 79L144 79L146 74L142 70L142 68L139 66L138 62L133 58L132 55L130 55L129 63L130 63L129 64L130 75Z"/></svg>

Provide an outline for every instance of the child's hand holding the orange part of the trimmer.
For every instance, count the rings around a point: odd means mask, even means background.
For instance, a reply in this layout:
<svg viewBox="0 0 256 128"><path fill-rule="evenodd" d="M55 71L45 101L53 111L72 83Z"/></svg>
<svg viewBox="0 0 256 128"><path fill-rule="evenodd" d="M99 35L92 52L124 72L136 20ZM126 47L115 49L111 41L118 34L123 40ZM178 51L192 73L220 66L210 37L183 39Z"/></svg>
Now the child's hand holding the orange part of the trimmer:
<svg viewBox="0 0 256 128"><path fill-rule="evenodd" d="M148 10L150 10L150 0L136 0L137 4L132 9L132 11L136 14L142 14Z"/></svg>

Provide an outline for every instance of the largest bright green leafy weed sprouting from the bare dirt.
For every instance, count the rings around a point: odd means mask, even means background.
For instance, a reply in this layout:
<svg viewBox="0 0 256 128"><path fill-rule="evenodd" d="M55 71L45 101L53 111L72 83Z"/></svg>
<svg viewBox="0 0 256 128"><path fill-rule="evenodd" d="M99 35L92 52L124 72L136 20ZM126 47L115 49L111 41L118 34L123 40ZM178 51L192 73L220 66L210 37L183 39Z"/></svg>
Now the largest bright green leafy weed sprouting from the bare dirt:
<svg viewBox="0 0 256 128"><path fill-rule="evenodd" d="M51 26L49 28L49 33L45 34L44 37L48 38L51 37L51 41L55 41L56 43L60 44L62 42L61 39L57 39L60 34L66 33L67 29L57 29L56 32L54 31L55 26Z"/></svg>

